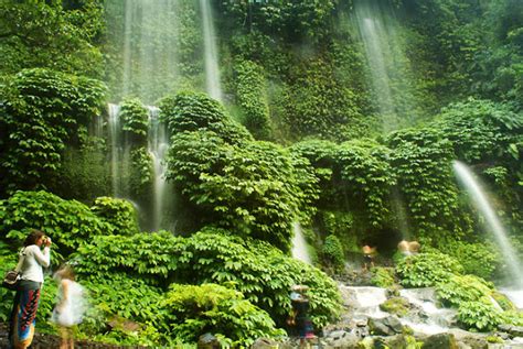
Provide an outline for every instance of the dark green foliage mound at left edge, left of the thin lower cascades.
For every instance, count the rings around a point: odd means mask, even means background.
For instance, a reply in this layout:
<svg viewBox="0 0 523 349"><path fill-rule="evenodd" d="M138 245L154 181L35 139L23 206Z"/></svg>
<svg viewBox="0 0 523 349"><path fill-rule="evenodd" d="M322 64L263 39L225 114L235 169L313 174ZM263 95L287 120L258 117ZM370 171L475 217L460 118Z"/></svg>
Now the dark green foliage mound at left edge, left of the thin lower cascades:
<svg viewBox="0 0 523 349"><path fill-rule="evenodd" d="M2 90L0 161L2 194L42 188L56 178L66 142L100 114L100 81L53 70L28 69Z"/></svg>

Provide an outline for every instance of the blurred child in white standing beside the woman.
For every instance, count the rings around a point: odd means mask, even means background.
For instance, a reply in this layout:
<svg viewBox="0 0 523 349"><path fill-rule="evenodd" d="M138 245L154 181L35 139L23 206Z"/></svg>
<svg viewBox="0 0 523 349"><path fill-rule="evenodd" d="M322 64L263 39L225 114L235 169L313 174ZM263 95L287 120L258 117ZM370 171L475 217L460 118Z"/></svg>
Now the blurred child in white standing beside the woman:
<svg viewBox="0 0 523 349"><path fill-rule="evenodd" d="M51 320L60 326L62 336L60 349L73 349L74 339L71 327L82 323L86 309L84 287L75 282L73 269L68 265L61 268L54 277L60 283L58 302Z"/></svg>

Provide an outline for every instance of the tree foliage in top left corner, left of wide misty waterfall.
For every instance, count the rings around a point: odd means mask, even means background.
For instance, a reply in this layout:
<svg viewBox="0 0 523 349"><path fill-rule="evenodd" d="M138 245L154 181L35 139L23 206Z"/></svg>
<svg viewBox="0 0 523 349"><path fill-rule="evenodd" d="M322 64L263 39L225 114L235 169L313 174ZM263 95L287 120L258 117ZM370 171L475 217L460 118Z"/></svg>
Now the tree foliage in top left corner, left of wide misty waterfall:
<svg viewBox="0 0 523 349"><path fill-rule="evenodd" d="M70 2L71 3L71 2ZM99 78L103 1L0 2L0 75L46 67Z"/></svg>

